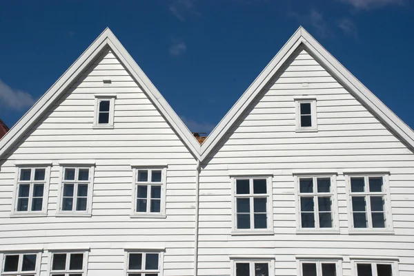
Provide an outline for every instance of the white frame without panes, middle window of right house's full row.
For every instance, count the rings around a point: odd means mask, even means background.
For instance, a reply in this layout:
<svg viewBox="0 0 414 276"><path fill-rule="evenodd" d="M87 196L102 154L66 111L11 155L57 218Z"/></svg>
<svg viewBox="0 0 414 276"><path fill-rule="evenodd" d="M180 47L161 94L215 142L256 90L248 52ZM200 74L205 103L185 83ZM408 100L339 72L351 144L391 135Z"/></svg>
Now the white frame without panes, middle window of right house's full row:
<svg viewBox="0 0 414 276"><path fill-rule="evenodd" d="M336 173L297 173L295 178L295 206L296 206L296 232L297 233L339 233L339 209L338 209L338 195L337 195L337 174ZM313 178L313 193L300 194L299 192L299 180L300 178ZM317 193L317 178L331 178L331 192L330 193ZM302 228L302 218L300 214L300 197L301 196L313 196L314 198L314 217L315 228ZM319 212L317 206L318 196L329 195L332 198L332 228L320 228L319 227Z"/></svg>

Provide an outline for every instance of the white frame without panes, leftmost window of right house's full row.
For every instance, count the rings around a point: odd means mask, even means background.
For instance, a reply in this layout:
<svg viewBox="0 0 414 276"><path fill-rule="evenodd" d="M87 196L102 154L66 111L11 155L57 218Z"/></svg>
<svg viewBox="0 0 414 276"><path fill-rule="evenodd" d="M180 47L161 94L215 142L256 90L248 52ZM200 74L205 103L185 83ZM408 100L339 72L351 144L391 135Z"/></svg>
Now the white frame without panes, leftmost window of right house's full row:
<svg viewBox="0 0 414 276"><path fill-rule="evenodd" d="M264 176L264 175L251 175L251 176L230 176L231 178L231 208L232 208L232 232L231 235L274 235L275 231L273 229L273 176ZM250 193L248 195L236 195L236 182L239 179L248 179L249 180L249 188ZM267 204L266 204L266 229L237 229L237 206L236 206L236 198L237 197L246 197L246 198L254 198L255 195L253 194L253 179L266 179L266 196L267 196ZM263 195L257 195L257 197L263 197ZM254 217L253 207L254 204L251 204L252 200L250 200L250 226L254 225Z"/></svg>

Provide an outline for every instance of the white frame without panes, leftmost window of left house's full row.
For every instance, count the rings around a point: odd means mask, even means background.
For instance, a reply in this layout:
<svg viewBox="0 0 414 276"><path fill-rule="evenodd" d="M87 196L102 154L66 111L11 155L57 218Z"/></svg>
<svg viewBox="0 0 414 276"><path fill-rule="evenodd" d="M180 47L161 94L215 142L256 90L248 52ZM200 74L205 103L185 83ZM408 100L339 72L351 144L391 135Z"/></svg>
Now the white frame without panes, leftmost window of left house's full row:
<svg viewBox="0 0 414 276"><path fill-rule="evenodd" d="M49 184L50 184L50 171L52 164L17 164L16 171L14 174L14 187L12 195L12 211L10 217L26 217L26 216L35 216L35 217L44 217L48 215L48 199L49 199ZM30 181L20 181L20 171L21 169L31 169ZM34 181L34 169L45 169L45 180ZM30 211L32 208L32 192L34 184L43 184L43 202L41 211ZM20 184L30 184L30 194L28 202L28 211L17 211L17 203L19 197L19 186Z"/></svg>

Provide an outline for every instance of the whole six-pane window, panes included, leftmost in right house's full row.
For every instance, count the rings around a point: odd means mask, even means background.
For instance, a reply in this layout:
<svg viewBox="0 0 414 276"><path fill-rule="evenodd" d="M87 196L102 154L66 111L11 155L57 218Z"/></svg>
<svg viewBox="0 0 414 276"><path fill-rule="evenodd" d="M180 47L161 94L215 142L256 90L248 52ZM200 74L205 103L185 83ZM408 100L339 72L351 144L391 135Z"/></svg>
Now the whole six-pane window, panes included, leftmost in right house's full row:
<svg viewBox="0 0 414 276"><path fill-rule="evenodd" d="M235 178L235 231L273 230L270 178Z"/></svg>

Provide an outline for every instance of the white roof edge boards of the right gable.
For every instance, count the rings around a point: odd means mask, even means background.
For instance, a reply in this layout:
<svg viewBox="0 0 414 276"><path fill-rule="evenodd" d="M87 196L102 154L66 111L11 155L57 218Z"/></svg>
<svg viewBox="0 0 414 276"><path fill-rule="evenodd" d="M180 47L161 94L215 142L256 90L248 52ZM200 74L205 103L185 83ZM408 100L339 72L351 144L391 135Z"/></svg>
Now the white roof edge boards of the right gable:
<svg viewBox="0 0 414 276"><path fill-rule="evenodd" d="M306 30L301 26L295 34L288 40L276 56L268 63L262 73L257 76L255 81L248 87L246 92L237 100L230 111L221 119L220 123L211 131L210 135L201 145L201 160L206 159L208 154L213 151L215 146L224 137L227 131L244 114L246 109L257 98L260 92L269 81L281 70L284 63L297 50L298 47L304 49L314 56L315 59L330 74L344 85L348 92L363 103L377 118L379 118L388 129L406 144L407 147L414 149L414 131L408 127L391 109L388 109L382 101L377 98L368 88L360 83L353 74L348 72L344 65L339 63L328 51L322 47Z"/></svg>

